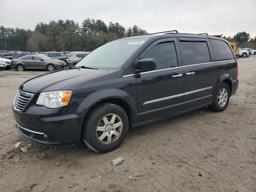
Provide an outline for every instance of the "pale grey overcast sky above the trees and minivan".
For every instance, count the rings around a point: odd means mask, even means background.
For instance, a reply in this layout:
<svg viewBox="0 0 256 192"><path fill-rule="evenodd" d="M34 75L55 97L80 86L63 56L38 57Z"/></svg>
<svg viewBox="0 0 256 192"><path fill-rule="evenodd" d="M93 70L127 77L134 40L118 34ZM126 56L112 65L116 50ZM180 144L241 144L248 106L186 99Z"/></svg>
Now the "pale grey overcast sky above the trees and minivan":
<svg viewBox="0 0 256 192"><path fill-rule="evenodd" d="M256 0L0 0L0 25L34 29L38 22L86 18L138 25L153 33L256 36Z"/></svg>

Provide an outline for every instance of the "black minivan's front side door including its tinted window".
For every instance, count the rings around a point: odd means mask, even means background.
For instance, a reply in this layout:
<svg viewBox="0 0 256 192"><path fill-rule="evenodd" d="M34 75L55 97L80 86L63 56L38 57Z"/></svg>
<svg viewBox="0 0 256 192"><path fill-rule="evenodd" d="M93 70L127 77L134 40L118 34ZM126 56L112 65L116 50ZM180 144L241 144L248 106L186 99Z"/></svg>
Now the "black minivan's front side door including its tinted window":
<svg viewBox="0 0 256 192"><path fill-rule="evenodd" d="M173 38L159 40L138 59L156 60L155 70L135 75L140 123L182 110L184 71L176 50Z"/></svg>

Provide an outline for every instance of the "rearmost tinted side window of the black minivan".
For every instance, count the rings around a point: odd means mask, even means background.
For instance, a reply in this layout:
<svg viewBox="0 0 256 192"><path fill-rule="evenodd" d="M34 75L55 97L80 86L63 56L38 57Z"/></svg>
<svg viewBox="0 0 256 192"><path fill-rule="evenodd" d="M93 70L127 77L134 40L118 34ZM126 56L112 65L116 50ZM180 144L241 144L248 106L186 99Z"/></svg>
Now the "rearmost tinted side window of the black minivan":
<svg viewBox="0 0 256 192"><path fill-rule="evenodd" d="M215 59L217 61L225 59L234 59L233 53L228 44L226 44L226 42L216 39L211 39L210 42L212 44Z"/></svg>

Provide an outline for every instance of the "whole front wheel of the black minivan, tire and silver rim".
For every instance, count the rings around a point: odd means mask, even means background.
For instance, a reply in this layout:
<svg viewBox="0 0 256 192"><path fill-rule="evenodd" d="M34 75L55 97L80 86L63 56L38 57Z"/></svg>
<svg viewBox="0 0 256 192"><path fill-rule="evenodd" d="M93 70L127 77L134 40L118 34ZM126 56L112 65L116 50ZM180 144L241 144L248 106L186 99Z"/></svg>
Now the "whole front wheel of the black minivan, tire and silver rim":
<svg viewBox="0 0 256 192"><path fill-rule="evenodd" d="M129 120L126 112L115 104L103 103L92 108L84 120L82 139L95 152L106 153L122 144L128 129Z"/></svg>

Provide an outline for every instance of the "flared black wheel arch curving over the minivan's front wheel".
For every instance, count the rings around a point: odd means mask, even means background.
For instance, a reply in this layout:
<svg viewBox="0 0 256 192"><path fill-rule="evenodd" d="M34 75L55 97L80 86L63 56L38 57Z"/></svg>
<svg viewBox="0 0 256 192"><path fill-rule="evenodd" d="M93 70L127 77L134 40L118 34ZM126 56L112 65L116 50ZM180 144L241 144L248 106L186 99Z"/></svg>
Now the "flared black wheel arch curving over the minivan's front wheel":
<svg viewBox="0 0 256 192"><path fill-rule="evenodd" d="M104 89L104 90L98 90L96 92L91 93L90 95L86 96L84 100L80 103L79 107L77 108L76 112L82 114L82 119L85 118L88 111L98 104L99 102L102 102L107 99L120 99L129 106L132 118L132 122L136 122L136 119L138 116L137 113L137 103L134 100L134 98L129 95L127 92L121 89Z"/></svg>

